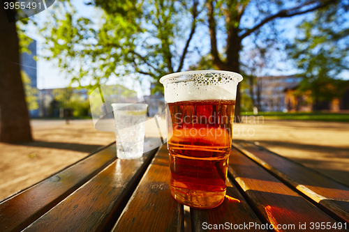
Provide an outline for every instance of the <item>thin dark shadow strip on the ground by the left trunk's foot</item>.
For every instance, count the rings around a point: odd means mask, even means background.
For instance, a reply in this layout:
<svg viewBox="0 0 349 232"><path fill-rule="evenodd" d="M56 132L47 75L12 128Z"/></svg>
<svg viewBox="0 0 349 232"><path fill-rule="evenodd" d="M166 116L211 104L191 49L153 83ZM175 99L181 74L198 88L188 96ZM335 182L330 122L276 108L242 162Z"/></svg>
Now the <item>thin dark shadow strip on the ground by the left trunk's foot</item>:
<svg viewBox="0 0 349 232"><path fill-rule="evenodd" d="M48 141L32 141L29 143L16 144L20 146L36 146L39 148L56 148L63 150L74 150L80 151L82 153L92 153L103 145L97 144L70 144L70 143L58 143L58 142L48 142Z"/></svg>

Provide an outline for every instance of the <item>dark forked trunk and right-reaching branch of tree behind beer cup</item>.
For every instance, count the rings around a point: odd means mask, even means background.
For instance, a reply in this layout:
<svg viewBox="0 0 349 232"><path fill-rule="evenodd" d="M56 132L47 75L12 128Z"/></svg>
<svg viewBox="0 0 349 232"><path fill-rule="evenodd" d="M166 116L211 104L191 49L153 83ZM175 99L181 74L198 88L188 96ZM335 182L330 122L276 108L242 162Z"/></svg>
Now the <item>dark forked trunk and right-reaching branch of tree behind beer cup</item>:
<svg viewBox="0 0 349 232"><path fill-rule="evenodd" d="M295 2L295 1L294 1ZM242 51L242 40L250 37L253 33L268 42L270 36L263 33L262 26L269 22L275 22L278 18L290 18L295 15L302 15L313 10L324 8L337 1L297 1L297 5L286 7L287 1L207 1L209 35L211 38L211 56L216 68L233 72L240 72L240 52ZM287 4L288 3L288 4ZM291 3L292 4L292 3ZM273 6L274 5L274 6ZM250 10L248 10L248 6ZM251 8L253 8L251 10ZM257 10L258 13L255 13ZM245 26L242 19L250 16L254 26ZM224 18L226 32L224 59L218 52L217 46L217 21ZM254 23L256 22L256 23ZM271 25L272 26L272 25ZM264 37L264 38L263 38ZM276 36L277 38L277 36ZM273 41L273 40L272 40ZM237 102L235 112L239 116L240 98L239 88L237 91Z"/></svg>

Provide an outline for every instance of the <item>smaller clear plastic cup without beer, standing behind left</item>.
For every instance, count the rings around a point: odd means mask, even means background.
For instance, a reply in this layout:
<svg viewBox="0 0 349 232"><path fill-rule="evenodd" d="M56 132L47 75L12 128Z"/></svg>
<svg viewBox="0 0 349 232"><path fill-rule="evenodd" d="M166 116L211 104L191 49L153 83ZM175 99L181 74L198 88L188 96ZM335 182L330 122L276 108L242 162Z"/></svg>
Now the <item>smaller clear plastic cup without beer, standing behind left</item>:
<svg viewBox="0 0 349 232"><path fill-rule="evenodd" d="M112 104L119 159L131 160L142 157L147 107L147 104Z"/></svg>

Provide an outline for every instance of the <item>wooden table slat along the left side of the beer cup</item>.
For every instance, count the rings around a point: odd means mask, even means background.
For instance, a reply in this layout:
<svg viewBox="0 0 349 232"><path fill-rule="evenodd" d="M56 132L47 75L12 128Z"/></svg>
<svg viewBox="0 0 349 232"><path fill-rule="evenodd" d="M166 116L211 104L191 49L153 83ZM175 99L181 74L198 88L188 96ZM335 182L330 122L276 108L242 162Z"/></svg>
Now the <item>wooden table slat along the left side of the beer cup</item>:
<svg viewBox="0 0 349 232"><path fill-rule="evenodd" d="M184 209L170 192L168 150L162 146L113 231L183 231Z"/></svg>

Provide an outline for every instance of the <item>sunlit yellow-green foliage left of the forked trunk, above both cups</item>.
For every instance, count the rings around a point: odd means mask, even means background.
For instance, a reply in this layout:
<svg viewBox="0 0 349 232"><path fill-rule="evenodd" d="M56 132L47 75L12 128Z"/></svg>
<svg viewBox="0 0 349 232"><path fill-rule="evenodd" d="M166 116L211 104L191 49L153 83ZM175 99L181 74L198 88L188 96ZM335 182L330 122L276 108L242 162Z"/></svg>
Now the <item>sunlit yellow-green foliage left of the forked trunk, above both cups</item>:
<svg viewBox="0 0 349 232"><path fill-rule="evenodd" d="M129 73L158 80L181 70L177 46L186 40L192 4L96 0L91 5L101 11L99 18L86 18L77 16L70 1L60 1L52 10L54 20L41 29L47 41L45 58L56 59L77 84L90 79L90 86L98 86Z"/></svg>

